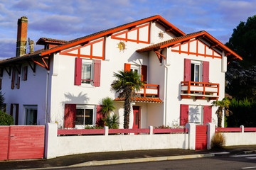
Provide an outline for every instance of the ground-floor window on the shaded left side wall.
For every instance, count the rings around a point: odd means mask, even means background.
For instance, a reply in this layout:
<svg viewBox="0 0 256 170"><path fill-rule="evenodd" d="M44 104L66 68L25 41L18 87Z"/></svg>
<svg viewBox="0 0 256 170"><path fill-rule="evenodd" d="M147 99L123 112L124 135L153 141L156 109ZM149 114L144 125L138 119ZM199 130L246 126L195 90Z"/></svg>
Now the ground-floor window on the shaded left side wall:
<svg viewBox="0 0 256 170"><path fill-rule="evenodd" d="M37 106L25 106L26 125L37 125Z"/></svg>

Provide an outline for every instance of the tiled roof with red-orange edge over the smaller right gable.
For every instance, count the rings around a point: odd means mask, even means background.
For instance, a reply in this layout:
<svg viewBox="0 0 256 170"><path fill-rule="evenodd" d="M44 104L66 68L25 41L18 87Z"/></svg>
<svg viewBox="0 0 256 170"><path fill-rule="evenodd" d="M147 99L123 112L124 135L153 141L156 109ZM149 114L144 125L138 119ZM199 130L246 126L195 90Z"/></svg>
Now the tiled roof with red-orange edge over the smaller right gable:
<svg viewBox="0 0 256 170"><path fill-rule="evenodd" d="M220 51L223 50L226 54L228 54L228 60L237 60L237 59L242 60L242 57L240 57L240 55L233 52L233 50L230 50L227 46L223 45L223 43L221 43L220 41L215 39L212 35L207 33L205 30L201 30L196 33L190 33L190 34L186 34L186 35L183 35L180 37L172 38L172 39L166 40L164 42L159 42L154 45L149 45L148 47L144 47L144 48L136 50L136 51L137 52L147 52L147 51L151 51L151 50L159 50L164 47L169 47L171 45L175 45L179 42L184 42L186 40L190 40L192 38L203 38L204 40L209 42L210 45L216 45L215 48L217 48Z"/></svg>

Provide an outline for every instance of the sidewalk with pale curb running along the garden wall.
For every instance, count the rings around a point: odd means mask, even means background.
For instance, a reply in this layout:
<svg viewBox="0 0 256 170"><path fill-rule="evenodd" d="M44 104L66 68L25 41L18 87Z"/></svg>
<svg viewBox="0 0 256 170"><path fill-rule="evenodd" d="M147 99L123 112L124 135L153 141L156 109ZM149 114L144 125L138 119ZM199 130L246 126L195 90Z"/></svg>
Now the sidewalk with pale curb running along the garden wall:
<svg viewBox="0 0 256 170"><path fill-rule="evenodd" d="M215 152L230 152L230 154L245 154L245 151L255 152L256 145L225 147L219 150L183 150L156 149L125 152L102 152L76 154L55 159L14 160L0 162L0 169L46 169L60 166L88 166L100 164L120 164L129 162L149 162L169 159L188 159L198 157L214 157ZM113 161L114 160L114 161Z"/></svg>

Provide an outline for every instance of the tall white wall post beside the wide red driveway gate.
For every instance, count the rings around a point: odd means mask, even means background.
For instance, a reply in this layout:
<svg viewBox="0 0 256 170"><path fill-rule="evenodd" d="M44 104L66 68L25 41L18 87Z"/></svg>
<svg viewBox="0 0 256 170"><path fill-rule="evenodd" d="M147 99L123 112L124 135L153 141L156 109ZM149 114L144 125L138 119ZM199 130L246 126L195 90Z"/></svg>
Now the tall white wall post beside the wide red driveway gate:
<svg viewBox="0 0 256 170"><path fill-rule="evenodd" d="M45 158L55 158L57 148L57 132L58 125L56 123L46 124L46 143L45 143Z"/></svg>

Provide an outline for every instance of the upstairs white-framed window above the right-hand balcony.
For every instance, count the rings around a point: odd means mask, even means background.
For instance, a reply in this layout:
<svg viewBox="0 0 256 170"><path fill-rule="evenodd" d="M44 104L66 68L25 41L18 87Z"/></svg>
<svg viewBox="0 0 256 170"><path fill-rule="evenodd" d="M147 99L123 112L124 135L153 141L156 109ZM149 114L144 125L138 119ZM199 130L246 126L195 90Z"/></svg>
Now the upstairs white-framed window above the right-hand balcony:
<svg viewBox="0 0 256 170"><path fill-rule="evenodd" d="M202 64L201 62L191 61L191 81L202 81Z"/></svg>

